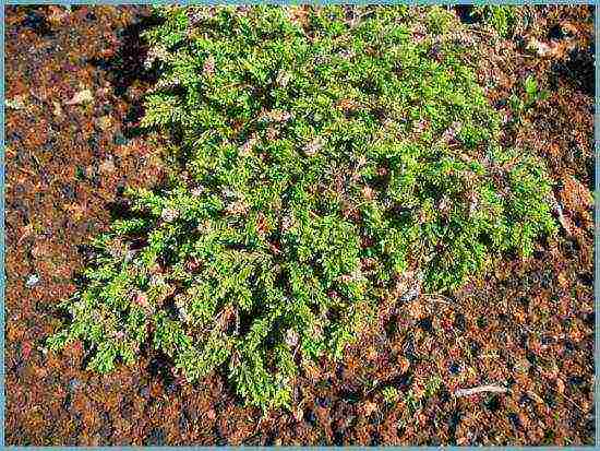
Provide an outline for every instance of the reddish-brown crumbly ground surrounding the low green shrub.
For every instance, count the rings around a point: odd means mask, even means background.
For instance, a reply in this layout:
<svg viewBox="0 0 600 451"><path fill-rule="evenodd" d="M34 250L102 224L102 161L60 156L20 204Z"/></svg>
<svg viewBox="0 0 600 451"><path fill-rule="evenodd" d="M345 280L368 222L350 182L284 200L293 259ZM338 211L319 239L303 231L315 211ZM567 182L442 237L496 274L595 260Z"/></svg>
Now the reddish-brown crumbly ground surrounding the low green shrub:
<svg viewBox="0 0 600 451"><path fill-rule="evenodd" d="M341 364L301 377L293 412L262 418L220 375L187 384L160 355L99 376L81 344L45 348L122 188L164 176L159 138L135 132L152 20L139 7L7 8L7 443L592 444L592 10L525 12L511 38L477 23L469 38L507 144L548 164L557 238L452 297L383 306ZM517 118L507 99L530 74L550 95ZM506 391L456 392L489 384Z"/></svg>

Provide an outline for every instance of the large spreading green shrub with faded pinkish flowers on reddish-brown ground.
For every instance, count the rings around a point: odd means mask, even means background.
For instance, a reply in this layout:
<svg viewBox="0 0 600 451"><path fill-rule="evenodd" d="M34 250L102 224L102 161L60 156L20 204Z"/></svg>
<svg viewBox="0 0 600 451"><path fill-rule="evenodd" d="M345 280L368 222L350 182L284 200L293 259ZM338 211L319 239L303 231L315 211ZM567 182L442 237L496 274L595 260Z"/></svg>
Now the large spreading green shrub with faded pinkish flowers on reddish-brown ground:
<svg viewBox="0 0 600 451"><path fill-rule="evenodd" d="M554 228L543 165L500 145L456 19L418 11L159 9L143 126L171 135L172 174L125 192L51 346L109 371L149 345L289 406L403 275L447 292L531 253Z"/></svg>

